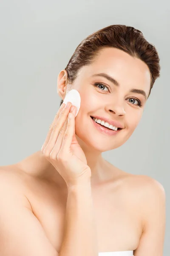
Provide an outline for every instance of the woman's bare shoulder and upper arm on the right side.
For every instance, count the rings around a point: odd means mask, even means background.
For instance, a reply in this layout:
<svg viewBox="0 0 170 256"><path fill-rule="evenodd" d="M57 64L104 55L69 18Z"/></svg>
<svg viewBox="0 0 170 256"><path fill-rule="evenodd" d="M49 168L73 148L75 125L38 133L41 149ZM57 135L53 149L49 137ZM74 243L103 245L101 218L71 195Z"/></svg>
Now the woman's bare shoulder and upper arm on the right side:
<svg viewBox="0 0 170 256"><path fill-rule="evenodd" d="M135 199L135 214L142 221L142 233L134 255L163 255L166 197L162 184L147 175L132 175L128 183Z"/></svg>

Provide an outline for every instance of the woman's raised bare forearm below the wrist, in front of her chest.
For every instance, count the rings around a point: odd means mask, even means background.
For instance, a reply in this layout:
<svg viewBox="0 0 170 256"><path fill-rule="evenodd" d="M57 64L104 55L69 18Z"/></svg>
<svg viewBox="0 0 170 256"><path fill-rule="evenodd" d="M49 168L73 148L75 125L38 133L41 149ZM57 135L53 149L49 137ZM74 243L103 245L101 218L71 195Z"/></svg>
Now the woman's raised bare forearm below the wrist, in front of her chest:
<svg viewBox="0 0 170 256"><path fill-rule="evenodd" d="M59 256L98 256L90 180L68 187L65 229Z"/></svg>

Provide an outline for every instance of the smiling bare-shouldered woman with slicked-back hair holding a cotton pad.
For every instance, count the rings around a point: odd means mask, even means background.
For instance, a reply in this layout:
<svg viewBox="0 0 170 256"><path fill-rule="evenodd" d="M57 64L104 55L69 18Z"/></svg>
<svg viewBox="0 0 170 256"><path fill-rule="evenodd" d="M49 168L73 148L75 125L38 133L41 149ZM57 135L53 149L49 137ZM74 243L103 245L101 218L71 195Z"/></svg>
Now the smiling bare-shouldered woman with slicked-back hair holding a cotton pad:
<svg viewBox="0 0 170 256"><path fill-rule="evenodd" d="M163 186L102 157L129 139L159 72L156 48L133 27L79 44L57 81L61 104L79 92L78 115L60 104L41 150L1 167L0 255L163 255Z"/></svg>

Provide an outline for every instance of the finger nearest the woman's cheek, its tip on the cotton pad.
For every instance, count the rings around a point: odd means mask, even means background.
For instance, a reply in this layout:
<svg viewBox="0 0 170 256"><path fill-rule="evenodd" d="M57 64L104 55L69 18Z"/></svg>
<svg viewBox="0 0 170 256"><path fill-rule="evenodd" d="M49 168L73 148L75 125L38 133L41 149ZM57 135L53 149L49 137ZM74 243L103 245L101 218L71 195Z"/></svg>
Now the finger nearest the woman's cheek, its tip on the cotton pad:
<svg viewBox="0 0 170 256"><path fill-rule="evenodd" d="M62 145L60 148L60 152L68 153L71 150L71 143L73 139L73 135L75 133L75 116L76 116L76 107L73 106L73 111L68 115L68 124L63 136Z"/></svg>

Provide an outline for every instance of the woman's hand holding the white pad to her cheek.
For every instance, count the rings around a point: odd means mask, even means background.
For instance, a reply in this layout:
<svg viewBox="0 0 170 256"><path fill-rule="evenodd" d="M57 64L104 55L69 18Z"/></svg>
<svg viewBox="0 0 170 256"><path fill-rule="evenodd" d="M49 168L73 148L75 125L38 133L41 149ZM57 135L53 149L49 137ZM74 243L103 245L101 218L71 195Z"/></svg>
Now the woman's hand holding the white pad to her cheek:
<svg viewBox="0 0 170 256"><path fill-rule="evenodd" d="M51 123L41 151L68 186L89 181L91 169L75 135L76 107L63 103Z"/></svg>

